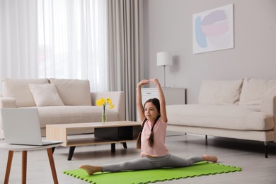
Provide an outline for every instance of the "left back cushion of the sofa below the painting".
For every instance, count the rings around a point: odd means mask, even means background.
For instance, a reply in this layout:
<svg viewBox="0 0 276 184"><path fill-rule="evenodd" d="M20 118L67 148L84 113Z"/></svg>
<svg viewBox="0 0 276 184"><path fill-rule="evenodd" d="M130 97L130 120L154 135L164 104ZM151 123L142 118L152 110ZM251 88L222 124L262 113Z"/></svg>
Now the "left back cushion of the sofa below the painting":
<svg viewBox="0 0 276 184"><path fill-rule="evenodd" d="M200 95L201 104L238 105L243 80L202 81Z"/></svg>

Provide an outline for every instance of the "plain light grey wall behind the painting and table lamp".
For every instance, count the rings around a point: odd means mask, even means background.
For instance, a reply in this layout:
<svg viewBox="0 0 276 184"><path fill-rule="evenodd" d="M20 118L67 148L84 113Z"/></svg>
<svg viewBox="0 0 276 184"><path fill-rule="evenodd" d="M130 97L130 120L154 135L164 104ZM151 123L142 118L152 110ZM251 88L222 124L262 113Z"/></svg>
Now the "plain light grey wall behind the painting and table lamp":
<svg viewBox="0 0 276 184"><path fill-rule="evenodd" d="M234 49L192 54L192 14L234 4ZM202 79L276 79L275 0L144 0L144 77L163 84L156 52L172 52L166 86L197 103Z"/></svg>

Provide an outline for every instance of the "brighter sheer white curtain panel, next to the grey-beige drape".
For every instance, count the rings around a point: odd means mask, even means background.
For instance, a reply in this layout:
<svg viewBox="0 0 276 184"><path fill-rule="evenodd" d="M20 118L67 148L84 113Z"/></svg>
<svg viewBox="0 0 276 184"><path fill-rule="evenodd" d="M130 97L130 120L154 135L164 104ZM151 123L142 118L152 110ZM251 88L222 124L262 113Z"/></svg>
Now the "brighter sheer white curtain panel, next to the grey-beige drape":
<svg viewBox="0 0 276 184"><path fill-rule="evenodd" d="M108 91L107 1L38 0L40 77L88 79Z"/></svg>

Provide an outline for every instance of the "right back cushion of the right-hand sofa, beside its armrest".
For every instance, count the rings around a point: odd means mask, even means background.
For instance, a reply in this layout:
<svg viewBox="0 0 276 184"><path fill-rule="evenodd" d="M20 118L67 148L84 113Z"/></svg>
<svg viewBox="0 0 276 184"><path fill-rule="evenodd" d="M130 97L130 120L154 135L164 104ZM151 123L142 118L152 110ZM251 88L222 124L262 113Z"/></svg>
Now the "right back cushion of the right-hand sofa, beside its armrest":
<svg viewBox="0 0 276 184"><path fill-rule="evenodd" d="M260 98L276 87L276 80L245 78L238 105L260 105Z"/></svg>

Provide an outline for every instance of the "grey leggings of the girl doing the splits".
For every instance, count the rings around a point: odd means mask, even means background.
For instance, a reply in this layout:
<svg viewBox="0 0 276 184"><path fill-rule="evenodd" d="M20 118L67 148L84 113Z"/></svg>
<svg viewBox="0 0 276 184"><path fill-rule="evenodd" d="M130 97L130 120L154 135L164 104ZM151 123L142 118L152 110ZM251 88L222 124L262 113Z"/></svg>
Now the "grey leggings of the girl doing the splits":
<svg viewBox="0 0 276 184"><path fill-rule="evenodd" d="M127 170L145 170L154 168L173 168L191 166L193 163L203 161L202 156L190 156L188 158L180 158L168 154L159 157L142 157L131 161L122 161L120 163L110 163L103 165L103 171L118 172Z"/></svg>

